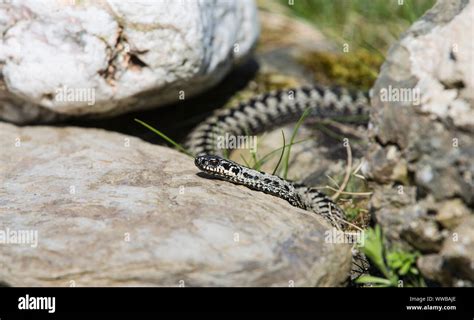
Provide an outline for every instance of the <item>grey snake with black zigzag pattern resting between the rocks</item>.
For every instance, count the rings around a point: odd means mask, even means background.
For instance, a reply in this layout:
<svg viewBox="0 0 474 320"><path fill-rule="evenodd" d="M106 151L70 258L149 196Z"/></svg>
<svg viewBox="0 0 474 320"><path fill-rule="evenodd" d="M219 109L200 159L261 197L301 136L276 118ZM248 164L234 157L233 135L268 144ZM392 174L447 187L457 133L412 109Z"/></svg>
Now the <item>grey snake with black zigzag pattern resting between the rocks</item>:
<svg viewBox="0 0 474 320"><path fill-rule="evenodd" d="M369 97L367 93L340 87L273 91L218 110L190 133L186 147L196 155L196 166L208 175L277 196L343 229L344 212L324 193L224 159L224 150L216 144L218 136L256 135L296 121L307 109L310 117L317 118L368 116Z"/></svg>

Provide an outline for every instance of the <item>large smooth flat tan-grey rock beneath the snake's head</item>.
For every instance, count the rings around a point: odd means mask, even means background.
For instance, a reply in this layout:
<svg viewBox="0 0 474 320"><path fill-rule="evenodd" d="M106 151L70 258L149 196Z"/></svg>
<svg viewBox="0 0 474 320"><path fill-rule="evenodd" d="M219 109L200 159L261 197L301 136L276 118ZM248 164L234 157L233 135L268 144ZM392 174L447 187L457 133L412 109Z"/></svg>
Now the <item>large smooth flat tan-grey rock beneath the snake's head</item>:
<svg viewBox="0 0 474 320"><path fill-rule="evenodd" d="M320 217L199 177L174 150L96 129L1 123L0 134L0 283L335 286L349 275L350 247L327 243Z"/></svg>

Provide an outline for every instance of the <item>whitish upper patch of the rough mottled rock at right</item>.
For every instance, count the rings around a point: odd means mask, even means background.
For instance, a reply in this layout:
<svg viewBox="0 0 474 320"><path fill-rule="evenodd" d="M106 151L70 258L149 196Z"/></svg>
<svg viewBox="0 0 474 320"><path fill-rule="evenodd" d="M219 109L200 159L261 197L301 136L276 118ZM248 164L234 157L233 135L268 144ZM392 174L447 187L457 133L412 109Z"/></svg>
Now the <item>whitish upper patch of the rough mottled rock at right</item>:
<svg viewBox="0 0 474 320"><path fill-rule="evenodd" d="M439 118L449 117L464 128L474 128L473 20L474 2L468 2L449 23L401 41L410 53L411 72L420 79L416 88L421 93L421 109ZM425 21L419 21L411 29L416 35L426 27Z"/></svg>

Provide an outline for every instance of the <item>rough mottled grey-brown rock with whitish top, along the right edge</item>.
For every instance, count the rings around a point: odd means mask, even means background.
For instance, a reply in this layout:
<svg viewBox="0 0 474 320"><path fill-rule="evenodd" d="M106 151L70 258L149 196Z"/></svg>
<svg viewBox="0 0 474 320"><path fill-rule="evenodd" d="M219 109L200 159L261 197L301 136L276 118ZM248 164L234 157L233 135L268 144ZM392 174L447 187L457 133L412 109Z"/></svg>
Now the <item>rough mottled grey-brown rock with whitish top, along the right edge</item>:
<svg viewBox="0 0 474 320"><path fill-rule="evenodd" d="M439 1L391 48L373 88L364 171L375 219L443 285L474 284L473 21L472 1Z"/></svg>

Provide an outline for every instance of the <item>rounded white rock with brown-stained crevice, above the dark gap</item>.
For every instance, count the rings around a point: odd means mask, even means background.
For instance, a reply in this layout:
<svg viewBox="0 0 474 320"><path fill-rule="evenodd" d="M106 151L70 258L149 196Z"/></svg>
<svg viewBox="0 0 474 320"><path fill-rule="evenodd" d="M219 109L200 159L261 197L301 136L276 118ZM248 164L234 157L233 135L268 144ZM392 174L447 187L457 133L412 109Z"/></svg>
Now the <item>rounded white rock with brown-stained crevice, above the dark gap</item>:
<svg viewBox="0 0 474 320"><path fill-rule="evenodd" d="M189 98L244 60L253 0L0 4L0 118L104 117Z"/></svg>

